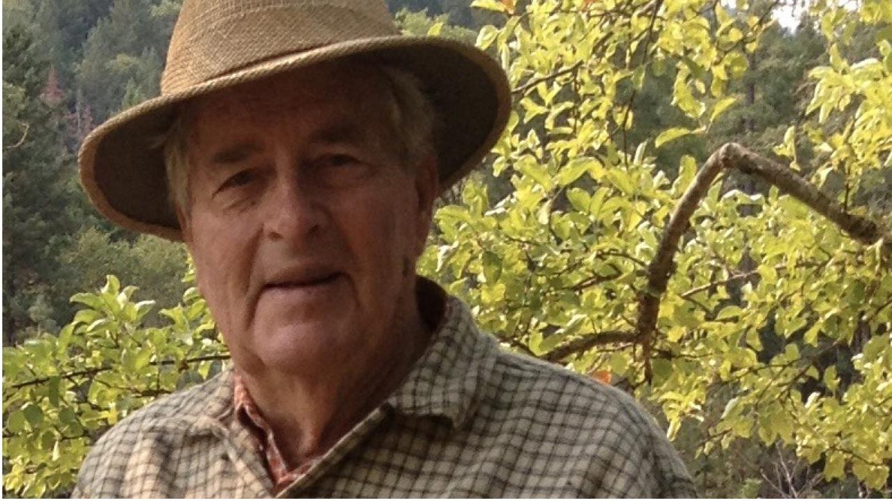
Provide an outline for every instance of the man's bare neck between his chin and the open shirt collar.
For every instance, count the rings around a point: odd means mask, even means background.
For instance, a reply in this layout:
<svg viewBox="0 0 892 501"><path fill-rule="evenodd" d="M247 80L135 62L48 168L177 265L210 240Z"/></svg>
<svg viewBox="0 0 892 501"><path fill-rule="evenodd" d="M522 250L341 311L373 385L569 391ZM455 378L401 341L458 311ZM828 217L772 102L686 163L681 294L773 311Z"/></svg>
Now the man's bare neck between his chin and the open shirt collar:
<svg viewBox="0 0 892 501"><path fill-rule="evenodd" d="M290 467L325 454L409 374L431 333L412 303L414 314L394 326L392 341L369 357L369 366L335 366L329 374L241 374Z"/></svg>

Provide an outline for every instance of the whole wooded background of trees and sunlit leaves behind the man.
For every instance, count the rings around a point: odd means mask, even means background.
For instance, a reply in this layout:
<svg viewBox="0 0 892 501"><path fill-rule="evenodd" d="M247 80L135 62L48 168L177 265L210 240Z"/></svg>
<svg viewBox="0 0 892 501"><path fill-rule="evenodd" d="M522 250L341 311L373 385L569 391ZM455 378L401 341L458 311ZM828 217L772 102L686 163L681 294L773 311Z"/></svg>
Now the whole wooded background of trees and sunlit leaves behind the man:
<svg viewBox="0 0 892 501"><path fill-rule="evenodd" d="M789 28L782 1L388 4L514 88L423 274L646 402L701 494L892 496L892 3L799 2ZM227 358L184 248L77 180L84 136L158 94L178 7L3 4L7 494L69 493L102 431Z"/></svg>

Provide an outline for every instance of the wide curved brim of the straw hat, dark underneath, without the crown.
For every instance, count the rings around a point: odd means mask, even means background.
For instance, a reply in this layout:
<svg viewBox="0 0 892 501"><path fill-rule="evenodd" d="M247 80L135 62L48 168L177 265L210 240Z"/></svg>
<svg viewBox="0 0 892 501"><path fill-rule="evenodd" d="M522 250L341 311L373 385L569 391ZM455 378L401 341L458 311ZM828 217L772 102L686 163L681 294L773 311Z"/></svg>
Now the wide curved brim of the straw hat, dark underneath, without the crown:
<svg viewBox="0 0 892 501"><path fill-rule="evenodd" d="M352 40L261 62L186 91L156 97L109 119L87 136L78 154L87 196L103 216L120 226L182 241L157 144L175 119L178 105L220 89L347 57L392 64L421 80L439 113L435 143L441 191L475 168L508 121L511 93L505 73L475 46L439 37Z"/></svg>

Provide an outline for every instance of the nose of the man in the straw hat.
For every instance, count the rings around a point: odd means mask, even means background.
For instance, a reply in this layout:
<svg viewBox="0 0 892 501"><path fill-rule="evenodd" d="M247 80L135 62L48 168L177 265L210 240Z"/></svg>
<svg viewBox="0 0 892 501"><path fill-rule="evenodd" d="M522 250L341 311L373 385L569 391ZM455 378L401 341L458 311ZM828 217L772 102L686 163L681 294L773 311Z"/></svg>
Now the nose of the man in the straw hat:
<svg viewBox="0 0 892 501"><path fill-rule="evenodd" d="M280 177L268 203L266 233L274 240L300 242L318 233L326 222L326 211L310 185L295 176Z"/></svg>

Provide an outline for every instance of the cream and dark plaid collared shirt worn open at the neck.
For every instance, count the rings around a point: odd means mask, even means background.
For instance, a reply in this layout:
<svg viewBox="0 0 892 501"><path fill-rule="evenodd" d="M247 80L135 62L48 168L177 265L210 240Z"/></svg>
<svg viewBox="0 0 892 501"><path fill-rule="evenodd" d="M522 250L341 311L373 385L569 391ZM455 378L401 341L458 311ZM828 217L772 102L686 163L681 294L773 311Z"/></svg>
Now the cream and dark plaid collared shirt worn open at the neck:
<svg viewBox="0 0 892 501"><path fill-rule="evenodd" d="M270 497L233 373L113 427L74 497ZM622 391L499 349L447 300L425 354L384 403L277 497L694 497L657 423Z"/></svg>

